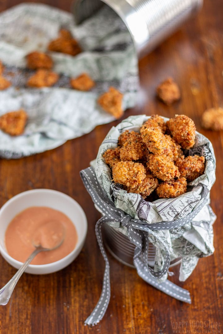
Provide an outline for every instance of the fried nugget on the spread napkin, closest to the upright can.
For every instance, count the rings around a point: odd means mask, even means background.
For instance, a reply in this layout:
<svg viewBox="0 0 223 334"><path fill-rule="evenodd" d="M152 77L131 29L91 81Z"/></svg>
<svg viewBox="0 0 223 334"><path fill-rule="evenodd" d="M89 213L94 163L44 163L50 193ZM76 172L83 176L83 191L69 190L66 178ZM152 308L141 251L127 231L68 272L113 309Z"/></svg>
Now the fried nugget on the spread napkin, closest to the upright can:
<svg viewBox="0 0 223 334"><path fill-rule="evenodd" d="M123 94L114 87L110 87L108 92L102 94L98 98L98 104L102 109L118 119L124 114L124 110L122 109L122 98Z"/></svg>

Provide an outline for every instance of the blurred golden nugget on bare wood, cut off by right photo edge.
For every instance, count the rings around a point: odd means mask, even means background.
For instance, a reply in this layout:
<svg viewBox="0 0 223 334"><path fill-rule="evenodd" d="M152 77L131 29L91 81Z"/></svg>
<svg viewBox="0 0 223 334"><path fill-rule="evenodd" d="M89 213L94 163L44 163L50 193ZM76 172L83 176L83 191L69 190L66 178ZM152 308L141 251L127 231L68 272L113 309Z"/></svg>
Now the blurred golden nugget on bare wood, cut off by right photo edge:
<svg viewBox="0 0 223 334"><path fill-rule="evenodd" d="M223 130L223 108L211 108L202 115L202 126L214 131Z"/></svg>

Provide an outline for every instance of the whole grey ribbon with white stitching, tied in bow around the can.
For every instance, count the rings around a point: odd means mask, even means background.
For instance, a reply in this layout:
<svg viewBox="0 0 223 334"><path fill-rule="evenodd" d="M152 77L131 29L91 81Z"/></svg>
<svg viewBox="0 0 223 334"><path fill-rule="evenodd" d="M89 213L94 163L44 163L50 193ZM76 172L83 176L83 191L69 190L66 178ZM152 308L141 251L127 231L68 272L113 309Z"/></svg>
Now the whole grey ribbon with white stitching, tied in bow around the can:
<svg viewBox="0 0 223 334"><path fill-rule="evenodd" d="M189 291L168 280L159 283L158 279L167 275L170 265L170 255L163 241L157 237L157 234L154 235L154 231L177 228L191 221L206 204L206 197L208 194L207 187L203 184L199 184L203 187L200 204L186 217L173 221L147 223L145 220L133 219L130 215L115 207L114 203L107 197L104 190L101 188L93 167L88 167L82 170L80 175L87 191L91 195L93 202L101 210L103 215L96 223L95 232L102 256L105 260L102 293L91 315L85 320L85 324L97 324L103 318L110 301L110 268L108 257L106 255L102 241L101 230L102 225L108 223L109 221L118 221L122 226L127 228L129 240L135 245L133 263L138 275L145 282L166 293L167 295L180 301L191 303ZM148 265L148 235L152 235L156 241L159 242L162 247L163 254L165 254L162 268L158 271L155 271Z"/></svg>

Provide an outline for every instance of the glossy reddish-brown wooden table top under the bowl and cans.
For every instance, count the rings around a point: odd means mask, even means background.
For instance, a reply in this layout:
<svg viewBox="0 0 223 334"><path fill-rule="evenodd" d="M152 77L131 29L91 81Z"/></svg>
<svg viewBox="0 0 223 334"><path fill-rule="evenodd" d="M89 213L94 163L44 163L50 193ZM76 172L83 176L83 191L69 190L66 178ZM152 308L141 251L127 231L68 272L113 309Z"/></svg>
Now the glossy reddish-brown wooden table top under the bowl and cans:
<svg viewBox="0 0 223 334"><path fill-rule="evenodd" d="M37 1L34 1L37 2ZM41 2L41 1L38 1ZM20 3L0 0L0 11ZM69 11L70 1L44 3ZM213 143L217 157L217 181L211 190L214 224L213 256L199 263L184 283L171 280L191 292L192 304L177 301L152 288L134 269L109 255L111 300L103 320L95 327L84 326L101 293L104 260L96 236L95 210L79 171L96 157L100 143L113 125L96 127L91 133L69 140L54 150L18 160L0 161L0 205L29 189L62 191L83 207L88 233L78 258L57 273L24 274L6 306L0 307L0 333L223 333L223 132L206 131L201 115L211 107L223 106L223 2L204 0L204 7L181 29L139 62L141 98L124 118L138 114L173 117L186 114L197 130ZM155 88L168 76L178 82L182 99L170 107L155 98ZM175 268L177 273L179 268ZM16 272L0 256L0 285ZM183 326L184 325L184 326ZM182 327L183 326L183 327Z"/></svg>

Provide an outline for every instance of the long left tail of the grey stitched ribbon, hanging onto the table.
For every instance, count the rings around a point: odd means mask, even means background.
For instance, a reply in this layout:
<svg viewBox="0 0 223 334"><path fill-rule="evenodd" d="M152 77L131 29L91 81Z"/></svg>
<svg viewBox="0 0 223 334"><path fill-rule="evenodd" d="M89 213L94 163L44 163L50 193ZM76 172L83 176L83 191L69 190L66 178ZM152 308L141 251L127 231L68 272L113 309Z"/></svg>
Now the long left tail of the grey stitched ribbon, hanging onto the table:
<svg viewBox="0 0 223 334"><path fill-rule="evenodd" d="M98 300L97 305L92 311L91 315L85 320L85 325L89 325L89 326L96 325L104 317L104 314L108 308L108 304L109 304L110 296L111 296L110 268L109 268L108 257L106 255L105 248L103 245L102 232L101 232L101 227L106 221L107 221L106 217L102 217L97 221L97 224L95 226L95 232L96 232L98 244L99 244L102 256L105 260L105 271L104 271L104 277L103 277L101 296Z"/></svg>

